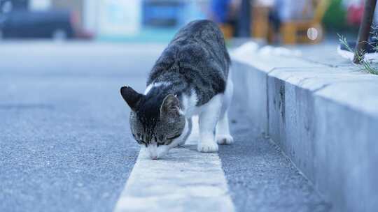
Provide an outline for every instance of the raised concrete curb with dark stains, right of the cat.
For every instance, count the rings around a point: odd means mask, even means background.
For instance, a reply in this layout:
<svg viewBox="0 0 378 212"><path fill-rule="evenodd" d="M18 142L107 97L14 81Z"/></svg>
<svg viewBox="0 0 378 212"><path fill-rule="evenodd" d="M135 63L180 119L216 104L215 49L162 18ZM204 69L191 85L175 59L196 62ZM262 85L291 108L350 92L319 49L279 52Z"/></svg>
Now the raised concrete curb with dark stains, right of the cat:
<svg viewBox="0 0 378 212"><path fill-rule="evenodd" d="M232 55L235 100L332 204L378 208L378 77L300 59Z"/></svg>

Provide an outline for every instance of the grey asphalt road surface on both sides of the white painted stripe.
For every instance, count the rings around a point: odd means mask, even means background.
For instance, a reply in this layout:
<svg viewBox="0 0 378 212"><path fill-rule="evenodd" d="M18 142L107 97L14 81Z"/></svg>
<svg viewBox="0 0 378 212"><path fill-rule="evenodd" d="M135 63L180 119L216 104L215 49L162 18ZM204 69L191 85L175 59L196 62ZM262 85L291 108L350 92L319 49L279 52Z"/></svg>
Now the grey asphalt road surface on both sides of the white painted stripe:
<svg viewBox="0 0 378 212"><path fill-rule="evenodd" d="M0 211L112 211L139 151L119 89L144 91L163 48L1 44ZM245 112L232 107L236 143L219 153L237 211L328 211Z"/></svg>

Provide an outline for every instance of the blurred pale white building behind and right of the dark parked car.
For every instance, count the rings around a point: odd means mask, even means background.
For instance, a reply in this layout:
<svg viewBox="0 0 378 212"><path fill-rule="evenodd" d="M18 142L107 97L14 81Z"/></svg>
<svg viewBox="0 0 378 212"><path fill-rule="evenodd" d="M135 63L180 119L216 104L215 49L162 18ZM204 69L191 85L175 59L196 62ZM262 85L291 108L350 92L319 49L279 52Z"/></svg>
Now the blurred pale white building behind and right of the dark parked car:
<svg viewBox="0 0 378 212"><path fill-rule="evenodd" d="M132 36L141 28L142 0L29 0L30 10L68 9L96 36Z"/></svg>

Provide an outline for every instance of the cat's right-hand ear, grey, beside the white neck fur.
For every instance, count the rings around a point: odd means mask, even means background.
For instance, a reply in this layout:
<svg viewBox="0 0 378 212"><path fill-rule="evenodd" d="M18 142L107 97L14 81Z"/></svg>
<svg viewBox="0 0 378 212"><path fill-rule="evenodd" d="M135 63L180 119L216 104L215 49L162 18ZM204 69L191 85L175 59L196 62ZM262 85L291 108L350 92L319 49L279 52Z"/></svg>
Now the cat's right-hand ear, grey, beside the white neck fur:
<svg viewBox="0 0 378 212"><path fill-rule="evenodd" d="M160 107L160 117L165 121L174 122L180 116L180 100L169 94Z"/></svg>

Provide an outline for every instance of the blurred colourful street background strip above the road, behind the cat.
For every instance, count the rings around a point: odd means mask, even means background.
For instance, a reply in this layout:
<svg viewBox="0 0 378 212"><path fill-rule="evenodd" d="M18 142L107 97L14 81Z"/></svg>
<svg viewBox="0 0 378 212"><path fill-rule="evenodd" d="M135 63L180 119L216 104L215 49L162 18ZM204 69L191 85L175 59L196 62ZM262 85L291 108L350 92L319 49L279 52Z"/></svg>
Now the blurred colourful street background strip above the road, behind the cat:
<svg viewBox="0 0 378 212"><path fill-rule="evenodd" d="M363 0L0 0L0 39L168 42L191 20L225 37L319 43L356 35ZM377 19L377 15L376 15Z"/></svg>

